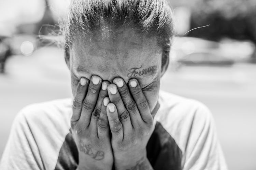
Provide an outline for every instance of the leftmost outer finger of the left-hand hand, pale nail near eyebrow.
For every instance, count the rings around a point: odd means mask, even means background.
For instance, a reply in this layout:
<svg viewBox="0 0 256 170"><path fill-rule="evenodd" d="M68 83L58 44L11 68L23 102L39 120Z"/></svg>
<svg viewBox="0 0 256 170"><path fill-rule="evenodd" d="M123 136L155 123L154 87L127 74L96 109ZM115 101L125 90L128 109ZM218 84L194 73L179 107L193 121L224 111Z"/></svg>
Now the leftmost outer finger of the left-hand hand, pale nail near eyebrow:
<svg viewBox="0 0 256 170"><path fill-rule="evenodd" d="M73 100L71 122L76 122L81 116L82 103L87 93L89 80L82 77L79 84L77 85L75 97Z"/></svg>

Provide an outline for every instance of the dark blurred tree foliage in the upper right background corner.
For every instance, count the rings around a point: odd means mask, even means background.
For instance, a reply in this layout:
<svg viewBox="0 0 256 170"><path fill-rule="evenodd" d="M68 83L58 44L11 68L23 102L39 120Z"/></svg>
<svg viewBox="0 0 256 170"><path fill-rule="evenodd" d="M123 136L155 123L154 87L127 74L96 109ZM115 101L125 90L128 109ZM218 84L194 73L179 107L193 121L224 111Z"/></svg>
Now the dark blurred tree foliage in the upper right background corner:
<svg viewBox="0 0 256 170"><path fill-rule="evenodd" d="M191 8L190 29L210 24L210 27L187 34L218 41L223 37L251 40L256 44L256 0L169 0L171 5ZM253 56L256 61L256 52Z"/></svg>

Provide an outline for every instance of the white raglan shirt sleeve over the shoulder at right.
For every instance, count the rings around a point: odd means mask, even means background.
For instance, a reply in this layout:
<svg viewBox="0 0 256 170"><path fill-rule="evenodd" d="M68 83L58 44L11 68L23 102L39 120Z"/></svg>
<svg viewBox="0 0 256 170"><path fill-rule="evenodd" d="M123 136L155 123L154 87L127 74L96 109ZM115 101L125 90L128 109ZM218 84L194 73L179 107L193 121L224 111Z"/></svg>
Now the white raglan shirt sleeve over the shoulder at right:
<svg viewBox="0 0 256 170"><path fill-rule="evenodd" d="M226 169L214 120L207 106L164 91L159 93L159 103L155 120L181 149L184 169L218 169L219 166Z"/></svg>

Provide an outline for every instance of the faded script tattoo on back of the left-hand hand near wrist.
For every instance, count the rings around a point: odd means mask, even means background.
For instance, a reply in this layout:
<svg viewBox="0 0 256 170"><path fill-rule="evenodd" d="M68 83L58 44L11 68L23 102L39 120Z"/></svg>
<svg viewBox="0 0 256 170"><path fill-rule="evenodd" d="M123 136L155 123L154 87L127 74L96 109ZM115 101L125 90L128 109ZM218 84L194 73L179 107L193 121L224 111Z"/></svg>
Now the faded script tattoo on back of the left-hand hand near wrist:
<svg viewBox="0 0 256 170"><path fill-rule="evenodd" d="M104 158L103 151L93 151L91 145L85 145L82 140L79 141L79 149L81 152L84 152L86 155L90 155L93 159L101 160Z"/></svg>

